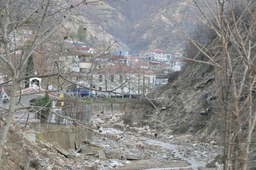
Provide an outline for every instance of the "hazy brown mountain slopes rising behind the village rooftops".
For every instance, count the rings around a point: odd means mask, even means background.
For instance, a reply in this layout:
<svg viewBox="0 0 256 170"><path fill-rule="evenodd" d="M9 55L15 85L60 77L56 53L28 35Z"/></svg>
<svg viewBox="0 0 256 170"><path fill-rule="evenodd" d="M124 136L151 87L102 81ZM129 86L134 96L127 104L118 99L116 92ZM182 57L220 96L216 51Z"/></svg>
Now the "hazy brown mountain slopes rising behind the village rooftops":
<svg viewBox="0 0 256 170"><path fill-rule="evenodd" d="M100 1L82 7L80 20L87 27L86 43L91 46L99 42L108 46L118 40L117 48L134 55L154 48L172 51L184 45L172 14L185 30L191 31L195 23L191 6L189 0Z"/></svg>

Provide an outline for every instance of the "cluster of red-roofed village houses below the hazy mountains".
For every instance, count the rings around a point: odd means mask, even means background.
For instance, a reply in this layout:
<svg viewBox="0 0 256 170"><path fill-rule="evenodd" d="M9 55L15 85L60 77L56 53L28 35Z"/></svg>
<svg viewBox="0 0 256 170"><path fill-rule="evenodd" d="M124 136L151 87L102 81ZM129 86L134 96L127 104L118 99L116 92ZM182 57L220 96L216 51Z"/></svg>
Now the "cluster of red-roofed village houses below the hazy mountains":
<svg viewBox="0 0 256 170"><path fill-rule="evenodd" d="M79 43L82 44L82 43ZM97 53L87 46L76 46L70 51L70 68L76 81L99 91L141 94L168 82L171 72L186 66L183 50L166 52L152 49L138 56L128 51ZM84 80L84 75L87 79Z"/></svg>

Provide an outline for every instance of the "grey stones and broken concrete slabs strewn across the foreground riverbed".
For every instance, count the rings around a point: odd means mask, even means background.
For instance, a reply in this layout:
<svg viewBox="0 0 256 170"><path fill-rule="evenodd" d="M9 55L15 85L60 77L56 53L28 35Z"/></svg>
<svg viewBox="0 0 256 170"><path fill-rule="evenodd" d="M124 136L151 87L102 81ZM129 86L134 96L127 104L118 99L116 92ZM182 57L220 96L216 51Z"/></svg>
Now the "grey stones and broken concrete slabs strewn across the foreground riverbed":
<svg viewBox="0 0 256 170"><path fill-rule="evenodd" d="M221 146L198 142L192 135L170 135L169 131L166 131L168 133L158 133L157 138L147 136L145 133L136 138L134 135L137 132L132 132L131 127L125 132L113 129L103 130L102 125L101 128L102 133L94 136L93 142L85 141L78 150L64 150L56 142L50 144L47 141L30 142L26 139L23 139L23 146L29 150L31 160L38 160L38 170L128 170L176 165L186 167L189 165L187 160L192 157L204 164L210 163L222 150ZM148 126L137 127L137 129L141 132L145 129L150 130ZM136 147L139 141L144 145L144 149ZM161 141L175 147L170 149L150 141ZM14 154L11 152L16 149L10 145L11 143L6 144L9 145L4 147L5 156ZM20 144L17 147L20 147ZM10 167L11 165L4 169L11 169Z"/></svg>

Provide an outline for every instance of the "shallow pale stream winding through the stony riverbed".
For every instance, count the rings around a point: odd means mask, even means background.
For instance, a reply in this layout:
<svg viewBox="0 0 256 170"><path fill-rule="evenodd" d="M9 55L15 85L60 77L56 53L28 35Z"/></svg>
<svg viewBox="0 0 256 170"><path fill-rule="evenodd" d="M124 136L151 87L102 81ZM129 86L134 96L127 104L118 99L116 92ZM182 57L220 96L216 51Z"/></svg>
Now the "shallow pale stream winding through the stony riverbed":
<svg viewBox="0 0 256 170"><path fill-rule="evenodd" d="M154 139L148 139L148 138L145 138L145 137L140 137L140 139L145 140L145 141L147 141L149 143L152 143L152 144L159 144L163 148L172 150L172 152L174 153L174 156L176 158L181 158L185 161L188 161L189 164L190 164L190 166L186 166L186 167L165 167L165 168L152 168L152 169L145 169L145 170L177 170L177 169L180 169L180 168L183 168L183 169L191 168L192 170L198 170L198 167L205 167L205 165L206 165L206 163L204 161L196 160L196 157L200 156L199 154L195 154L195 156L191 156L189 158L186 158L186 157L183 156L183 154L179 153L179 151L183 148L191 149L189 147L183 147L183 146L178 146L178 145L175 145L175 144L169 144L169 143L166 143L166 142L157 141L157 140L154 140Z"/></svg>

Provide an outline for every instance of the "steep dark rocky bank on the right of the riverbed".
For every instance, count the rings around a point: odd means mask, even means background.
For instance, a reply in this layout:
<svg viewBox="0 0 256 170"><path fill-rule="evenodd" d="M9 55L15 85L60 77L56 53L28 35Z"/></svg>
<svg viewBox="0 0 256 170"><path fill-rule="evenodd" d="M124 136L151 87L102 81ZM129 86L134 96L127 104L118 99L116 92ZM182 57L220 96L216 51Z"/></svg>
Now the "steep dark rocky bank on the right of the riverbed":
<svg viewBox="0 0 256 170"><path fill-rule="evenodd" d="M176 75L175 75L176 74ZM170 75L169 84L142 99L137 115L141 125L172 133L192 133L216 138L221 120L217 113L214 72L211 66L189 63L180 73ZM178 74L178 75L177 75Z"/></svg>

